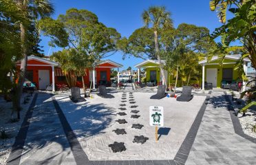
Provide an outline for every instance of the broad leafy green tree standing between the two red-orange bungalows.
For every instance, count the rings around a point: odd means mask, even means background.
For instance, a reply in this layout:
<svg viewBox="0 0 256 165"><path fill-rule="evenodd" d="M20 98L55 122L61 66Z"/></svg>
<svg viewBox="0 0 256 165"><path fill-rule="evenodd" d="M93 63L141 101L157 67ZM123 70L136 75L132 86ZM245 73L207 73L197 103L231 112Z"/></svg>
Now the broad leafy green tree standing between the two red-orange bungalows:
<svg viewBox="0 0 256 165"><path fill-rule="evenodd" d="M72 8L56 20L43 19L40 25L43 34L50 36L50 45L76 50L80 61L74 72L79 73L78 76L85 76L86 69L96 67L102 58L117 51L120 34L100 23L96 14L88 10ZM84 80L83 88L85 90Z"/></svg>

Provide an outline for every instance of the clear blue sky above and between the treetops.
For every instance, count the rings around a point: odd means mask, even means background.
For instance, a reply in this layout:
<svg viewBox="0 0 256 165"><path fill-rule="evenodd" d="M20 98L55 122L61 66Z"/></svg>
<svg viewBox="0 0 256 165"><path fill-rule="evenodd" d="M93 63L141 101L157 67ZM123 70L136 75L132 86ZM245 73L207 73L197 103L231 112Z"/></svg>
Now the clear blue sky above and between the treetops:
<svg viewBox="0 0 256 165"><path fill-rule="evenodd" d="M143 27L141 14L152 5L164 5L171 12L174 27L177 28L180 23L189 23L197 26L203 26L213 32L215 28L222 24L217 19L216 12L211 12L209 0L52 0L54 3L54 19L59 14L65 14L70 8L85 9L94 12L98 20L109 28L115 28L121 35L129 37L134 30ZM41 46L45 55L51 55L52 52L61 50L58 47L50 47L49 39L42 36ZM109 56L107 59L122 64L127 69L131 66L141 63L143 60L128 56L122 60L122 52Z"/></svg>

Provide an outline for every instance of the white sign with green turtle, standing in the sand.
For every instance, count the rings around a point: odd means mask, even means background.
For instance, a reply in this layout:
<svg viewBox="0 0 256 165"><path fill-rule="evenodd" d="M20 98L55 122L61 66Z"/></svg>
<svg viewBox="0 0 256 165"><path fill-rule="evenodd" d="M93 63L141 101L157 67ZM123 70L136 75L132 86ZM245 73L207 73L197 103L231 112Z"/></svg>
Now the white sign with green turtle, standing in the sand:
<svg viewBox="0 0 256 165"><path fill-rule="evenodd" d="M164 108L160 106L149 107L149 124L151 126L164 126Z"/></svg>

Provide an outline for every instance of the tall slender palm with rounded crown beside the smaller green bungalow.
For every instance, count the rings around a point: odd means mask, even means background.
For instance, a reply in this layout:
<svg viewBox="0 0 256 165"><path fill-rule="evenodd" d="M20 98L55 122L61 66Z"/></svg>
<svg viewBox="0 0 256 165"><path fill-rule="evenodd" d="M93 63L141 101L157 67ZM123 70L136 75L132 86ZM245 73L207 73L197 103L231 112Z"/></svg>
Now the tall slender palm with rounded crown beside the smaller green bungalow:
<svg viewBox="0 0 256 165"><path fill-rule="evenodd" d="M152 6L148 10L145 10L142 13L142 19L145 23L146 27L149 25L153 26L153 34L154 34L154 41L155 41L155 50L156 50L156 57L158 59L158 63L160 66L160 72L162 78L164 79L164 85L167 87L167 80L164 76L164 69L160 57L160 49L158 43L158 32L160 29L167 29L173 28L173 21L171 19L171 12L168 12L164 6Z"/></svg>

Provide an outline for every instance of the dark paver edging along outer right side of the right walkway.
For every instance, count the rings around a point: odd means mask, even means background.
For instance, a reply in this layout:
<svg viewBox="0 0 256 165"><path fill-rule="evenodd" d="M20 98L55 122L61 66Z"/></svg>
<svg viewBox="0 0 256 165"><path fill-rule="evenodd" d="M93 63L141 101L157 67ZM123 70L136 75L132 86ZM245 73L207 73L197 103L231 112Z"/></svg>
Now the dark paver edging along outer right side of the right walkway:
<svg viewBox="0 0 256 165"><path fill-rule="evenodd" d="M233 127L234 127L234 130L235 130L235 133L237 133L237 135L241 136L241 137L244 137L246 140L249 140L250 142L253 142L253 143L256 143L256 138L254 137L251 137L249 135L246 135L242 129L242 126L239 122L239 119L237 118L237 116L235 115L235 109L234 107L232 106L232 102L231 100L229 99L229 96L226 94L226 91L224 91L224 94L225 94L225 100L226 102L228 102L228 111L229 111L229 114L231 115L231 120L232 120L232 123L233 123Z"/></svg>

